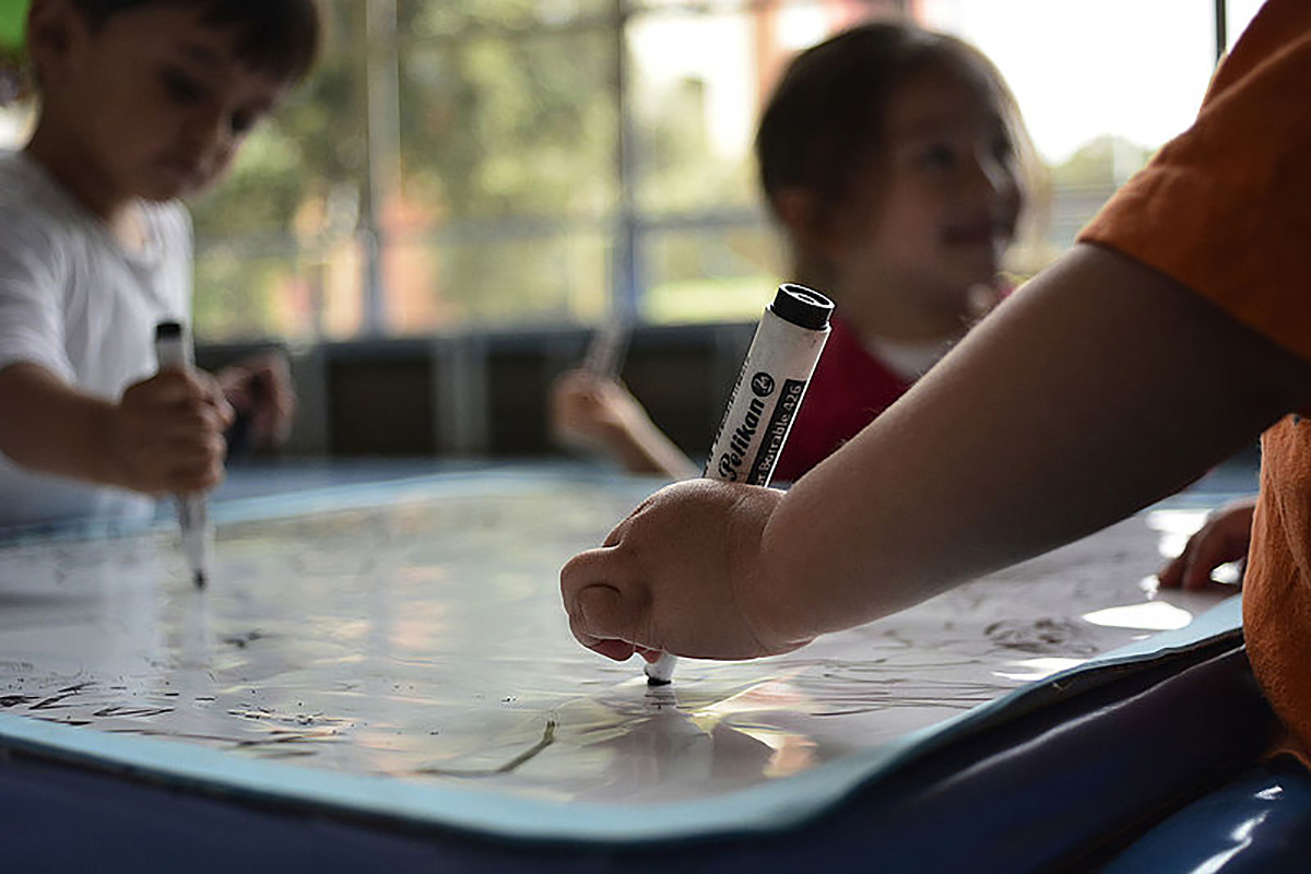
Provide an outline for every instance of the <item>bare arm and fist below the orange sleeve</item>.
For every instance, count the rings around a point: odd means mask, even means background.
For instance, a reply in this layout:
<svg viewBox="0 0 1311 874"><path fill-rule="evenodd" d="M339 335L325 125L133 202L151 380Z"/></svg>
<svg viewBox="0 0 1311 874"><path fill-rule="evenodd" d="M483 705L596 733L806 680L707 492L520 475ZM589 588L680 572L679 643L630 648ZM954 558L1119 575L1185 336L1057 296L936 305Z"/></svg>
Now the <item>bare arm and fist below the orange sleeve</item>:
<svg viewBox="0 0 1311 874"><path fill-rule="evenodd" d="M1307 362L1079 245L787 494L657 493L565 566L565 608L612 658L785 651L1129 515L1308 393Z"/></svg>

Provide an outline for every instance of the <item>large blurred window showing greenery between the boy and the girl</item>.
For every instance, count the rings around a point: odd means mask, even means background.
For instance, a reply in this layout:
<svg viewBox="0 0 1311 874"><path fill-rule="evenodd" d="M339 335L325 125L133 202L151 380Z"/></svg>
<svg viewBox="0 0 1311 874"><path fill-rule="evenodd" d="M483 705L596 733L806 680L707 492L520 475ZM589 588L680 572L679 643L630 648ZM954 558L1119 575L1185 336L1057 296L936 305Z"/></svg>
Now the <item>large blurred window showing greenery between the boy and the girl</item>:
<svg viewBox="0 0 1311 874"><path fill-rule="evenodd" d="M893 0L338 0L309 86L195 204L205 337L745 318L750 143L796 48Z"/></svg>

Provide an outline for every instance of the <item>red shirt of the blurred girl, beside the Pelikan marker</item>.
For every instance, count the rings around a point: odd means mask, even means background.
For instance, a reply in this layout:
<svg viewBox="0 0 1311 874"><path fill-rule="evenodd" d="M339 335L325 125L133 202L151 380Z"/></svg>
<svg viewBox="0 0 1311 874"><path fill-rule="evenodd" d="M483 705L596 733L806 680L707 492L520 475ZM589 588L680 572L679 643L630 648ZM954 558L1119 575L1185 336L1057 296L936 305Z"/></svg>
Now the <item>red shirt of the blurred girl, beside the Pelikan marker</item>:
<svg viewBox="0 0 1311 874"><path fill-rule="evenodd" d="M861 345L840 318L825 343L775 480L796 480L856 436L911 385Z"/></svg>

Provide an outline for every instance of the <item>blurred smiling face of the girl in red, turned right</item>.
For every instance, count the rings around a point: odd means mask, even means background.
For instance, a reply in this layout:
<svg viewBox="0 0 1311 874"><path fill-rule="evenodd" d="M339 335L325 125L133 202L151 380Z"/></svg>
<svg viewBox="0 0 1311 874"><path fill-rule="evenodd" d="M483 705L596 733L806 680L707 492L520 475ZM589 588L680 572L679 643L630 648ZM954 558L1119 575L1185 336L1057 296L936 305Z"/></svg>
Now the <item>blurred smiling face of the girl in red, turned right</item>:
<svg viewBox="0 0 1311 874"><path fill-rule="evenodd" d="M884 123L860 202L835 218L838 284L958 318L971 288L995 280L1024 199L1002 109L981 84L928 69L893 94Z"/></svg>

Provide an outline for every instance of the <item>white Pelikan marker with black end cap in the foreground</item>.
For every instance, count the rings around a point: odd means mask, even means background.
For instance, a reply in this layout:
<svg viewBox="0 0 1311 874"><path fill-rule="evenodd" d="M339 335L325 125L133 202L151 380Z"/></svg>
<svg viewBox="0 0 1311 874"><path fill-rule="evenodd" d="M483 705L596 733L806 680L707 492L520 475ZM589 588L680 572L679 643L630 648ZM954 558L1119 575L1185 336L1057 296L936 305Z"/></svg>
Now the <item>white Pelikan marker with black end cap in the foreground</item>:
<svg viewBox="0 0 1311 874"><path fill-rule="evenodd" d="M701 476L767 486L829 339L832 301L804 286L783 284L764 308L742 362L729 406ZM678 656L646 663L646 683L674 679Z"/></svg>

